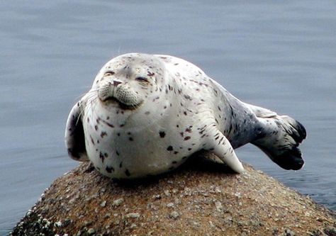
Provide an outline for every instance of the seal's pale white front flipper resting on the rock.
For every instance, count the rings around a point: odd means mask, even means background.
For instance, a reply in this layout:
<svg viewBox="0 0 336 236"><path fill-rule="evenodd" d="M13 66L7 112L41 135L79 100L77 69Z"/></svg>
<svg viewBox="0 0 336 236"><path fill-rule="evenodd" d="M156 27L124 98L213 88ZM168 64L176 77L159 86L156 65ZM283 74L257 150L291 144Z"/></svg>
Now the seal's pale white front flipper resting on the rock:
<svg viewBox="0 0 336 236"><path fill-rule="evenodd" d="M242 163L237 158L233 147L231 146L229 140L221 133L219 130L215 132L215 135L209 135L208 147L206 150L213 152L217 157L219 157L225 164L233 169L237 173L244 172L244 167Z"/></svg>

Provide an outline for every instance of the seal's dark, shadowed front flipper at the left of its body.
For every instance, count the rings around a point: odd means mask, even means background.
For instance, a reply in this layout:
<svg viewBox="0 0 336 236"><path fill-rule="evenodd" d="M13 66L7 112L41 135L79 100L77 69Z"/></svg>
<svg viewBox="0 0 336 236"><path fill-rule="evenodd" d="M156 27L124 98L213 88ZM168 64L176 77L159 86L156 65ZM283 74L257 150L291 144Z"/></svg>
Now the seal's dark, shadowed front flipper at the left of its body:
<svg viewBox="0 0 336 236"><path fill-rule="evenodd" d="M65 146L69 157L79 162L88 161L85 148L84 129L80 117L80 102L78 102L69 113L65 129Z"/></svg>

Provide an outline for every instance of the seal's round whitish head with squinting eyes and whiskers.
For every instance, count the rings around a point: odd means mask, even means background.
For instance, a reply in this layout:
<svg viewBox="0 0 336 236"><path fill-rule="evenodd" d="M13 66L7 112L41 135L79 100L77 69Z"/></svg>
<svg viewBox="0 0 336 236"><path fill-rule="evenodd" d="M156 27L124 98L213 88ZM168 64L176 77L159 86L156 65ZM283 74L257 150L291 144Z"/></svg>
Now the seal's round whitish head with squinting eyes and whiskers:
<svg viewBox="0 0 336 236"><path fill-rule="evenodd" d="M126 54L107 62L92 89L108 110L135 110L157 96L164 77L164 64L153 55Z"/></svg>

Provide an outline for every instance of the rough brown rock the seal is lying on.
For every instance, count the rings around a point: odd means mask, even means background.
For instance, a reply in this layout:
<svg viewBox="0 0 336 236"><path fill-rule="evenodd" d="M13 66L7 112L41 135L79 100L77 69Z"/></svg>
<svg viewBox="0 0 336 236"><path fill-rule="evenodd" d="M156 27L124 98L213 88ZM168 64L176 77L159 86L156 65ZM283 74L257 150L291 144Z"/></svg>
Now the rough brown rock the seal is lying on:
<svg viewBox="0 0 336 236"><path fill-rule="evenodd" d="M127 182L80 164L52 183L11 234L336 235L335 213L266 174L194 159Z"/></svg>

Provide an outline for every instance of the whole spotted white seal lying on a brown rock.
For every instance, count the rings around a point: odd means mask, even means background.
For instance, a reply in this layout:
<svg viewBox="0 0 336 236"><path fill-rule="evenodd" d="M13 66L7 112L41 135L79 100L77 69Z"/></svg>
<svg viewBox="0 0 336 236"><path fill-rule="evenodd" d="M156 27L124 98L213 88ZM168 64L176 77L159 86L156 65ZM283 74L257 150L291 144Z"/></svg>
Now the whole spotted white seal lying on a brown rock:
<svg viewBox="0 0 336 236"><path fill-rule="evenodd" d="M297 170L305 138L301 123L236 99L194 64L142 53L101 68L65 131L69 156L113 179L167 172L199 150L242 173L234 149L248 142L280 167Z"/></svg>

